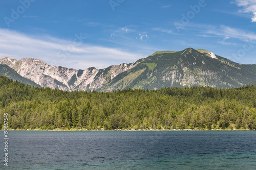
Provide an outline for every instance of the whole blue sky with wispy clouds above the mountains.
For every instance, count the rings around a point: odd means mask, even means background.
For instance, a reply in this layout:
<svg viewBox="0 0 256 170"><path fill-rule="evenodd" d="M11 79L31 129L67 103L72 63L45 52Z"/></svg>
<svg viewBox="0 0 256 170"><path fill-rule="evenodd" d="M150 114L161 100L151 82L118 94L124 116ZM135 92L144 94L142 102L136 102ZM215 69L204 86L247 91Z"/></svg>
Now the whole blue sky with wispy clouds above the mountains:
<svg viewBox="0 0 256 170"><path fill-rule="evenodd" d="M256 64L256 0L0 1L0 58L99 69L188 47Z"/></svg>

